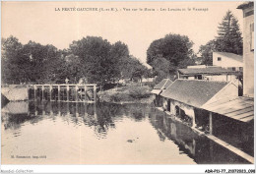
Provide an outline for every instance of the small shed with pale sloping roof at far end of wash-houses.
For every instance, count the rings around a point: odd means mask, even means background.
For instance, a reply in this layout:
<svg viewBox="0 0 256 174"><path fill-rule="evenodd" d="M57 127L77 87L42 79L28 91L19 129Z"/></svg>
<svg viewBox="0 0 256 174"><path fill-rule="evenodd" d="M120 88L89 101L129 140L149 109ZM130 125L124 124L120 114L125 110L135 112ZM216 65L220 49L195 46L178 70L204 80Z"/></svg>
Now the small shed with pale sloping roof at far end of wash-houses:
<svg viewBox="0 0 256 174"><path fill-rule="evenodd" d="M160 93L162 91L164 91L167 87L169 87L173 82L170 81L169 79L163 79L160 84L158 84L156 87L154 87L154 89L151 91L152 93L154 93L156 95L155 98L155 105L157 107L161 107L162 103L163 103L163 99L162 96L160 96Z"/></svg>

